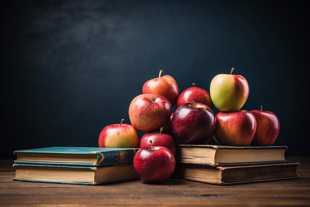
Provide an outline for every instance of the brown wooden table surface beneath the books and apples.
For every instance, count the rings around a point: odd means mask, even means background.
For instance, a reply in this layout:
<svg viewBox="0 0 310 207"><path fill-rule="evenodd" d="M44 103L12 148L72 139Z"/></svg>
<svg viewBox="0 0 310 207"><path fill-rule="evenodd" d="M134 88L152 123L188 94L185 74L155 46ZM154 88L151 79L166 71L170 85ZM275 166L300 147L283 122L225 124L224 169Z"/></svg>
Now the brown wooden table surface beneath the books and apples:
<svg viewBox="0 0 310 207"><path fill-rule="evenodd" d="M310 157L287 160L301 163L299 178L232 186L184 180L101 186L12 181L13 160L0 160L0 207L310 207Z"/></svg>

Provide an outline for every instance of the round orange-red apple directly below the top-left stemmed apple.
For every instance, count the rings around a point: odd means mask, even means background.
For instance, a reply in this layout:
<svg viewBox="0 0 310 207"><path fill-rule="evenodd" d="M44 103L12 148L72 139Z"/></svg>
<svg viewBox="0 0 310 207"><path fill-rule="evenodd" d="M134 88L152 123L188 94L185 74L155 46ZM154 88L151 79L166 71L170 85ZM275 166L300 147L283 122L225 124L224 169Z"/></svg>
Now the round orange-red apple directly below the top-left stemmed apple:
<svg viewBox="0 0 310 207"><path fill-rule="evenodd" d="M170 101L161 95L140 94L129 105L129 120L137 130L158 132L168 123L172 113Z"/></svg>

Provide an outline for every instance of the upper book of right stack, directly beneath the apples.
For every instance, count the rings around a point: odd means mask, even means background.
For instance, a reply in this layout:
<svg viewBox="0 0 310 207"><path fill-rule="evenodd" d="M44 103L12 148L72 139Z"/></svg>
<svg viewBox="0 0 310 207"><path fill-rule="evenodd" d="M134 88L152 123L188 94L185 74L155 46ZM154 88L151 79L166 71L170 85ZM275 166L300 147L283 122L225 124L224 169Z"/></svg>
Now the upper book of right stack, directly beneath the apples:
<svg viewBox="0 0 310 207"><path fill-rule="evenodd" d="M176 162L226 166L286 162L287 146L225 146L208 144L177 144Z"/></svg>

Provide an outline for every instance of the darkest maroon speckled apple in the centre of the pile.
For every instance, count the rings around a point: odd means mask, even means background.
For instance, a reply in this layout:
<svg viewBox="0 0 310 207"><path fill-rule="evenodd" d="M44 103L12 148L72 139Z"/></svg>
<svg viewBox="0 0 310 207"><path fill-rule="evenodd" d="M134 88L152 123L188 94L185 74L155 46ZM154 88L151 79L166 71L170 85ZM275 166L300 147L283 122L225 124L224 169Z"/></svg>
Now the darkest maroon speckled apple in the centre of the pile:
<svg viewBox="0 0 310 207"><path fill-rule="evenodd" d="M213 138L216 119L210 107L192 101L176 108L171 125L176 143L202 144Z"/></svg>

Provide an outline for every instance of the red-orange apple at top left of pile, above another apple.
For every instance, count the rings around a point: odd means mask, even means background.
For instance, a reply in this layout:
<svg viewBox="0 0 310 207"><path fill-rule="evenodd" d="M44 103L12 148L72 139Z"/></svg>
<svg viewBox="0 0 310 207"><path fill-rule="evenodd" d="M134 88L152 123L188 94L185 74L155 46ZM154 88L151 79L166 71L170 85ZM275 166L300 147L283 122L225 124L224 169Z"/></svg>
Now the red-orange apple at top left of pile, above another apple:
<svg viewBox="0 0 310 207"><path fill-rule="evenodd" d="M173 107L179 96L179 86L171 75L163 75L159 70L158 77L147 80L142 86L142 93L151 93L166 97Z"/></svg>

